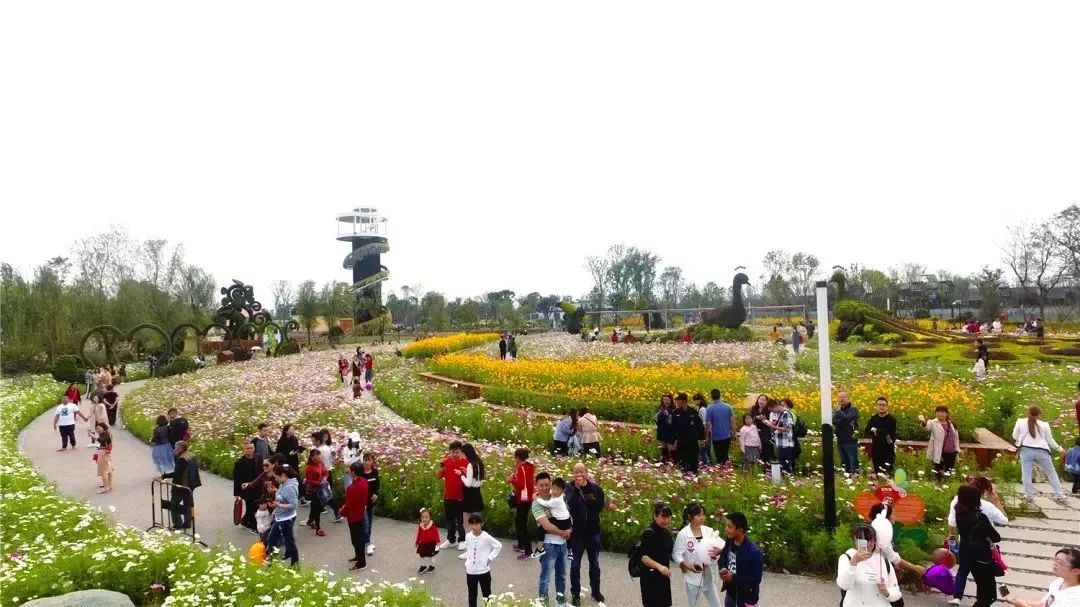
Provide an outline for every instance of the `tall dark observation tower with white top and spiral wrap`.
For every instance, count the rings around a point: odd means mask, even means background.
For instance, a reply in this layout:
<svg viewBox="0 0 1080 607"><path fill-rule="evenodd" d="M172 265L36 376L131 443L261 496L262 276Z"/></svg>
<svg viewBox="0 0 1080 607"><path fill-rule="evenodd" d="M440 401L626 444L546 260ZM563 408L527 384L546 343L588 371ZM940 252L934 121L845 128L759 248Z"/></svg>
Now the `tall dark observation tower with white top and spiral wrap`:
<svg viewBox="0 0 1080 607"><path fill-rule="evenodd" d="M390 276L381 264L382 254L390 251L387 241L387 218L372 206L353 208L337 216L340 241L352 243L342 266L352 270L352 291L356 294L355 319L365 323L381 315L382 281Z"/></svg>

